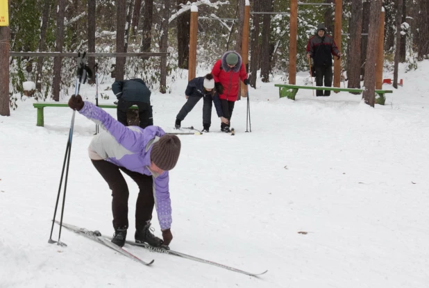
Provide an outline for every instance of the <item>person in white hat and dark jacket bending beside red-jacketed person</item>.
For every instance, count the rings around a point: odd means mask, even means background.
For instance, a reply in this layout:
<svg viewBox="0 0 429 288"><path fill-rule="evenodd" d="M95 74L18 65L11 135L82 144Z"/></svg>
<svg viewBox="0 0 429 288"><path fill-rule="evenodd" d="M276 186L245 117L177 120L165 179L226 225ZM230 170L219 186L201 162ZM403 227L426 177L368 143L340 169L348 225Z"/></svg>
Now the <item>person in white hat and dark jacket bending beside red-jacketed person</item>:
<svg viewBox="0 0 429 288"><path fill-rule="evenodd" d="M212 123L212 101L214 102L214 108L216 108L217 116L221 119L221 122L228 124L228 119L226 119L222 113L219 96L214 93L214 79L212 74L207 74L204 77L192 79L187 84L185 95L187 101L176 116L176 129L180 128L181 121L183 121L186 115L192 111L196 103L198 103L201 98L204 98L203 132L208 132Z"/></svg>

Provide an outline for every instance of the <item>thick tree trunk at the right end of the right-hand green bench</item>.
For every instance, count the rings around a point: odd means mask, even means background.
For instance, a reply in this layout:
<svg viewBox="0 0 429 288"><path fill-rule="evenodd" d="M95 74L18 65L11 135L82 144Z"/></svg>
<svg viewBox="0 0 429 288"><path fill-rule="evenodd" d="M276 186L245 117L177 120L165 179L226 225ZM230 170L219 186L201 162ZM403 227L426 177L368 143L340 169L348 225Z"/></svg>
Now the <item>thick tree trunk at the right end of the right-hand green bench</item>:
<svg viewBox="0 0 429 288"><path fill-rule="evenodd" d="M362 40L362 0L351 3L350 52L348 53L348 88L360 88L360 43Z"/></svg>

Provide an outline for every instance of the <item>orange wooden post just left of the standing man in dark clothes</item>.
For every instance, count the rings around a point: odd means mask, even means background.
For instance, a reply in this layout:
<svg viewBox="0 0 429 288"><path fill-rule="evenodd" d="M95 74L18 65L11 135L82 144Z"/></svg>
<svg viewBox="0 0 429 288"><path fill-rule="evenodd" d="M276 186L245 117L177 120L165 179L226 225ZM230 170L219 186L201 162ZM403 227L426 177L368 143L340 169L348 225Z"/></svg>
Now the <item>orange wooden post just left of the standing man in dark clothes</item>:
<svg viewBox="0 0 429 288"><path fill-rule="evenodd" d="M298 0L290 1L289 84L296 84L296 36L298 34Z"/></svg>

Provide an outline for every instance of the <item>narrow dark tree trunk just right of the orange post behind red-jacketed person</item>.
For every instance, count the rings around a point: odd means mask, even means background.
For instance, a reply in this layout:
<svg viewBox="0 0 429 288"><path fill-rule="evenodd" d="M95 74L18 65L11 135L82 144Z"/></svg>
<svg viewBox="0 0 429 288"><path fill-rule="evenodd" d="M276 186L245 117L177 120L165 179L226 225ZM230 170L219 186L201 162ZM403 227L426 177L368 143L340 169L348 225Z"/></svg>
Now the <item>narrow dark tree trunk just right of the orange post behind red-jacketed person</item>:
<svg viewBox="0 0 429 288"><path fill-rule="evenodd" d="M253 11L260 12L260 0L253 2ZM258 68L260 63L260 43L259 43L260 14L253 14L253 27L251 27L251 58L250 58L250 85L256 88L256 78L258 78Z"/></svg>

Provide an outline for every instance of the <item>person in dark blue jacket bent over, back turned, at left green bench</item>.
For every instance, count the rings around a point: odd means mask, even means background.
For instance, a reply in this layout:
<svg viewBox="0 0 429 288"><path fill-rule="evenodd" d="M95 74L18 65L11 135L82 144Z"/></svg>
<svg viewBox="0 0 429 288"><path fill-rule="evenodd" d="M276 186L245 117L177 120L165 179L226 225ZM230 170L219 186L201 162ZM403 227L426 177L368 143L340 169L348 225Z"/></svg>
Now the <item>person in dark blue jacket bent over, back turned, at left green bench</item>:
<svg viewBox="0 0 429 288"><path fill-rule="evenodd" d="M112 91L118 99L117 119L124 126L128 126L126 112L128 108L137 105L139 108L140 128L153 125L151 91L140 78L115 81Z"/></svg>

